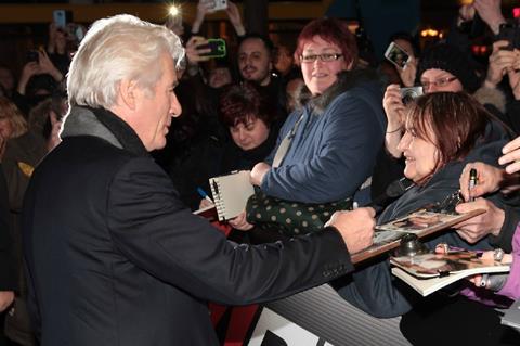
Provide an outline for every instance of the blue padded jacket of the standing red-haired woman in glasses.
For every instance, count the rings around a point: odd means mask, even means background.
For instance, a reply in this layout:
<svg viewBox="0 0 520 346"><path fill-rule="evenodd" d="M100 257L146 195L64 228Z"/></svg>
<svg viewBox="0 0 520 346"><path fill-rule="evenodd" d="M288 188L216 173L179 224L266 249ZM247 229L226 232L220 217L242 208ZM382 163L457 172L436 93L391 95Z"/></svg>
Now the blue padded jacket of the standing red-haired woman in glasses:
<svg viewBox="0 0 520 346"><path fill-rule="evenodd" d="M386 129L380 85L364 72L338 75L324 94L292 112L278 143L303 115L278 168L263 178L268 195L303 203L352 196L370 177Z"/></svg>

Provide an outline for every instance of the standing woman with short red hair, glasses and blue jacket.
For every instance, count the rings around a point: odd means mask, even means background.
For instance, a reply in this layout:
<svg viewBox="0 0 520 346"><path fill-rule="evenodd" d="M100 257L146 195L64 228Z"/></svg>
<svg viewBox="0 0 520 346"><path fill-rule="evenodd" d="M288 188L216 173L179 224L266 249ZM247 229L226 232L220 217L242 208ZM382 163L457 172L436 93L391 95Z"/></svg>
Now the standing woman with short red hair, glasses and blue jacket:
<svg viewBox="0 0 520 346"><path fill-rule="evenodd" d="M355 37L337 18L310 22L298 37L295 59L307 88L278 145L252 168L251 181L270 196L303 203L353 196L370 177L385 137L377 75L356 68ZM291 131L290 146L273 167L280 142ZM245 215L234 222L250 228Z"/></svg>

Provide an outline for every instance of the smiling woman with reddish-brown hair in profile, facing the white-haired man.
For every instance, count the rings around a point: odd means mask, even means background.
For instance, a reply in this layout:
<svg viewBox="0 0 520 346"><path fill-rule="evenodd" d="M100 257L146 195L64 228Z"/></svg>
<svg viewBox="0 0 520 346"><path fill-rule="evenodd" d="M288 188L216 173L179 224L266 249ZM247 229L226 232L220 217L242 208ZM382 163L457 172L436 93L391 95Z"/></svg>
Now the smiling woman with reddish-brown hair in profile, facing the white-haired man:
<svg viewBox="0 0 520 346"><path fill-rule="evenodd" d="M459 177L465 165L479 161L496 166L502 148L510 138L508 129L465 92L434 92L416 99L407 106L403 124L404 134L398 149L405 157L404 175L413 180L415 187L382 212L377 221L379 225L432 203L451 201L442 208L455 209L460 202ZM497 207L505 204L498 193L490 195L490 200ZM490 228L480 239L470 240L464 230L456 227L430 236L426 245L430 249L439 243L469 249L492 249L499 246L500 232L499 227ZM377 236L384 236L381 233ZM463 339L467 339L467 344L496 345L504 329L492 322L499 320L496 311L466 298L470 292L463 289L472 287L469 281L460 281L454 290L467 295L440 291L421 298L392 275L387 259L380 257L354 272L352 281L337 287L338 293L369 315L379 318L403 315L401 331L414 345L459 345ZM479 311L478 321L472 319L468 323L468 318L474 315L470 311ZM438 323L435 328L432 328L433 323ZM442 333L427 332L432 330ZM480 331L483 333L478 333ZM450 335L450 341L443 342L446 335Z"/></svg>

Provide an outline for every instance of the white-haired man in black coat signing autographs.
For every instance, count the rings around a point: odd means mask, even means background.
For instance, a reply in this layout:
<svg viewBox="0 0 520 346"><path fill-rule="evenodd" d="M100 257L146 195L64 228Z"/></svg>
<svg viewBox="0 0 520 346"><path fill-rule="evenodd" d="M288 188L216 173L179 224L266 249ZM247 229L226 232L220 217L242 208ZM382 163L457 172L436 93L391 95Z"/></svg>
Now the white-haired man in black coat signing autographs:
<svg viewBox="0 0 520 346"><path fill-rule="evenodd" d="M23 231L42 346L218 345L207 300L276 299L352 270L372 209L336 213L317 234L229 242L179 200L148 152L181 114L184 50L165 27L94 23L74 56L63 142L36 168Z"/></svg>

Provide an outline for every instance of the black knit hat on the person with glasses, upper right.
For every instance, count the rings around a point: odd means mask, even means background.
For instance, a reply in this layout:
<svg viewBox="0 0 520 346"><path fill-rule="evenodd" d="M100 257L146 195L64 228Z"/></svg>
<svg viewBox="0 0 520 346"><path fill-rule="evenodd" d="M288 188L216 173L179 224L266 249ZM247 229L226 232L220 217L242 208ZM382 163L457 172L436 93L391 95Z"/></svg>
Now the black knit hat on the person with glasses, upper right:
<svg viewBox="0 0 520 346"><path fill-rule="evenodd" d="M479 89L481 80L468 56L456 47L440 43L425 50L419 59L417 79L430 68L444 69L458 78L465 91L473 93Z"/></svg>

